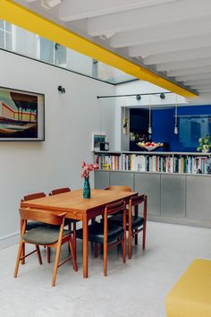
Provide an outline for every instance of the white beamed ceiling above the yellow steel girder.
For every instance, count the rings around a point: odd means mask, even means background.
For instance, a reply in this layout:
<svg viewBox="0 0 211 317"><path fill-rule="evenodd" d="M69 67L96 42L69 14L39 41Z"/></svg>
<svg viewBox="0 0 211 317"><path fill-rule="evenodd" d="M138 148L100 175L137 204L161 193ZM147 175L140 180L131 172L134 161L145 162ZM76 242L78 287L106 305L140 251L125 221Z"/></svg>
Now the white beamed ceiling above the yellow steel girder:
<svg viewBox="0 0 211 317"><path fill-rule="evenodd" d="M211 91L211 0L16 0L136 64Z"/></svg>

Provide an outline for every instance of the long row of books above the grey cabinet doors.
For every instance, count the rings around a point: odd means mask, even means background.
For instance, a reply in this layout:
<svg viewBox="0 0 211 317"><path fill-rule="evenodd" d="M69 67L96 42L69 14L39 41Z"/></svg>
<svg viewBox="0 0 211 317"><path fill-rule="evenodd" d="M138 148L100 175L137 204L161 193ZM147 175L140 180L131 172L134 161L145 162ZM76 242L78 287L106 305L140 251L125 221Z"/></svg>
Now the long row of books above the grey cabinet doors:
<svg viewBox="0 0 211 317"><path fill-rule="evenodd" d="M101 170L211 174L211 158L207 156L96 154L95 163Z"/></svg>

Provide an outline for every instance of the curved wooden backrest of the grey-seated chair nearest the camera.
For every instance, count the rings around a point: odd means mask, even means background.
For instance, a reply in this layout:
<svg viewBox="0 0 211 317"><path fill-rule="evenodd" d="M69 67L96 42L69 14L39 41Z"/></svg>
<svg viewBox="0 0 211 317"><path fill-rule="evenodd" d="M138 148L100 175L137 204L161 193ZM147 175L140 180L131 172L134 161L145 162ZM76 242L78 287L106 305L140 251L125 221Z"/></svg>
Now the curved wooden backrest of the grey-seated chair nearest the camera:
<svg viewBox="0 0 211 317"><path fill-rule="evenodd" d="M20 209L21 220L36 220L38 222L45 222L49 225L62 225L65 215L66 212L63 212L60 215L55 215L53 213L46 212L45 210L30 210L29 208Z"/></svg>

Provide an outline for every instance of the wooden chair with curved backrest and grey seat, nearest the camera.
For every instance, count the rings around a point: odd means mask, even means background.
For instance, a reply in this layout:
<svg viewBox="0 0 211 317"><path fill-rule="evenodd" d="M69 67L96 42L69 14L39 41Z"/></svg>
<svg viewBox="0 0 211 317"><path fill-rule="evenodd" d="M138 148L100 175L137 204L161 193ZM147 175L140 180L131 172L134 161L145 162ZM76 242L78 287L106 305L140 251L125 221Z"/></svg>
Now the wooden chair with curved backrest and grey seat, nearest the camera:
<svg viewBox="0 0 211 317"><path fill-rule="evenodd" d="M73 269L75 271L78 270L77 263L74 257L74 245L72 243L72 232L70 230L64 230L64 218L66 213L62 213L60 215L51 214L49 212L43 210L29 210L29 209L21 209L21 240L19 244L19 251L17 256L17 261L14 270L14 278L17 278L19 264L22 260L22 248L24 244L35 244L36 249L29 254L24 255L24 258L29 256L32 253L38 253L38 261L39 264L42 264L41 254L39 251L39 245L47 246L50 248L56 248L55 255L55 270L52 278L52 287L55 287L55 278L57 274L57 269L62 266L66 261L72 259ZM48 225L53 225L51 227L36 227L31 229L30 231L26 231L28 220L34 220L39 222L44 222ZM57 227L59 226L59 227ZM60 253L62 244L68 242L70 244L72 256L69 256L66 260L59 263Z"/></svg>

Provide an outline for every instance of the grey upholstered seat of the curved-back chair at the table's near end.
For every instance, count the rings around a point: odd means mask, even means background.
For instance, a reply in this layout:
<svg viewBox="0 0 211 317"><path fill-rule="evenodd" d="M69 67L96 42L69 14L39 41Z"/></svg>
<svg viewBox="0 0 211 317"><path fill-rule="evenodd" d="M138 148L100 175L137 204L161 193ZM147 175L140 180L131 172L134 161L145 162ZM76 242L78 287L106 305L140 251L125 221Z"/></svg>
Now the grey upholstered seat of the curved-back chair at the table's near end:
<svg viewBox="0 0 211 317"><path fill-rule="evenodd" d="M58 241L59 231L57 227L36 227L27 231L22 238L30 244L55 244ZM63 230L63 236L71 233L71 230Z"/></svg>

